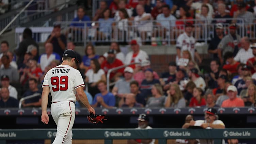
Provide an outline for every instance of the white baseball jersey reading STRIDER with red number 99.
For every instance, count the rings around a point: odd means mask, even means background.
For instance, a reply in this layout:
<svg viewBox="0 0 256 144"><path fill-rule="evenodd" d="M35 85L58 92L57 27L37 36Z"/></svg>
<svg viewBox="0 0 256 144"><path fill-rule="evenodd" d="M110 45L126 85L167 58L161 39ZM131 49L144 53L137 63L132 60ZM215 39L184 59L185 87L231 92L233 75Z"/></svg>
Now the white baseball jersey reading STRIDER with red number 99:
<svg viewBox="0 0 256 144"><path fill-rule="evenodd" d="M85 86L80 72L69 65L59 65L50 69L42 87L49 86L52 102L76 101L75 90Z"/></svg>

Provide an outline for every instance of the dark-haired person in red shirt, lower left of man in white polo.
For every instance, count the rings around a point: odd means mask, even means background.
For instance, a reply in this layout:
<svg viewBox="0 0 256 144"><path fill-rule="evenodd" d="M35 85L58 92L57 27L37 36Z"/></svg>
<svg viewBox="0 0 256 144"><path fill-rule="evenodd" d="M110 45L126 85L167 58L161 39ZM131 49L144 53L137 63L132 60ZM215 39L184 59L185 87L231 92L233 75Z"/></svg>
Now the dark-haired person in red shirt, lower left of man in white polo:
<svg viewBox="0 0 256 144"><path fill-rule="evenodd" d="M237 66L240 64L239 62L234 60L233 52L226 52L224 54L224 59L228 64L223 66L223 69L226 69L231 74L237 73Z"/></svg>

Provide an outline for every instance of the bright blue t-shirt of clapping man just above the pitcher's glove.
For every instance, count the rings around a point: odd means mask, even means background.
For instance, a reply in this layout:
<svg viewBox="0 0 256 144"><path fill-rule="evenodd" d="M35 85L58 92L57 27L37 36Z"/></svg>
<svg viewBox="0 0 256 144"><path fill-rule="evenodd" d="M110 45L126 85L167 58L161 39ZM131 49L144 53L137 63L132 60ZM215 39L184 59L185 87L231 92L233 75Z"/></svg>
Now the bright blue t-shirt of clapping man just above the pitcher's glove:
<svg viewBox="0 0 256 144"><path fill-rule="evenodd" d="M97 97L102 97L103 101L108 105L108 106L115 106L115 96L108 92L106 95L101 95L101 93L98 93L95 95L94 99L93 99L93 103L92 105L94 105L97 102ZM97 105L97 107L100 107L100 104Z"/></svg>

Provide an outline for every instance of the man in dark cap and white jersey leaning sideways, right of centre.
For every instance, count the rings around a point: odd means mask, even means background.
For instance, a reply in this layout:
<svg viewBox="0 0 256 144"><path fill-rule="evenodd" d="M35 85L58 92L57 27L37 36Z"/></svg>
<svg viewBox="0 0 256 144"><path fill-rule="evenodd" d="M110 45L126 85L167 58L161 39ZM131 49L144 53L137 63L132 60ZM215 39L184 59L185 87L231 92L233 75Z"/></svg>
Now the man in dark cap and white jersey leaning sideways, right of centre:
<svg viewBox="0 0 256 144"><path fill-rule="evenodd" d="M200 87L203 91L205 90L205 80L198 75L196 68L190 69L189 78L195 83L196 87Z"/></svg>

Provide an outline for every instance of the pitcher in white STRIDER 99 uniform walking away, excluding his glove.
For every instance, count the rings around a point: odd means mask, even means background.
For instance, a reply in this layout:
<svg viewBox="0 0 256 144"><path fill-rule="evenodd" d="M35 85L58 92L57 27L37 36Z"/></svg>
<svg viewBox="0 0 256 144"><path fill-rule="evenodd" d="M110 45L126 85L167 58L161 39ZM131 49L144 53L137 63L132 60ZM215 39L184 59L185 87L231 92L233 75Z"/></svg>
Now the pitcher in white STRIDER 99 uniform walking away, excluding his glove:
<svg viewBox="0 0 256 144"><path fill-rule="evenodd" d="M66 50L61 65L50 69L44 78L42 93L42 122L48 124L47 103L49 92L52 96L51 115L57 124L57 133L53 144L71 144L72 127L75 121L76 96L86 106L89 112L95 114L95 110L88 102L83 91L85 86L80 72L72 66L76 61L76 52Z"/></svg>

